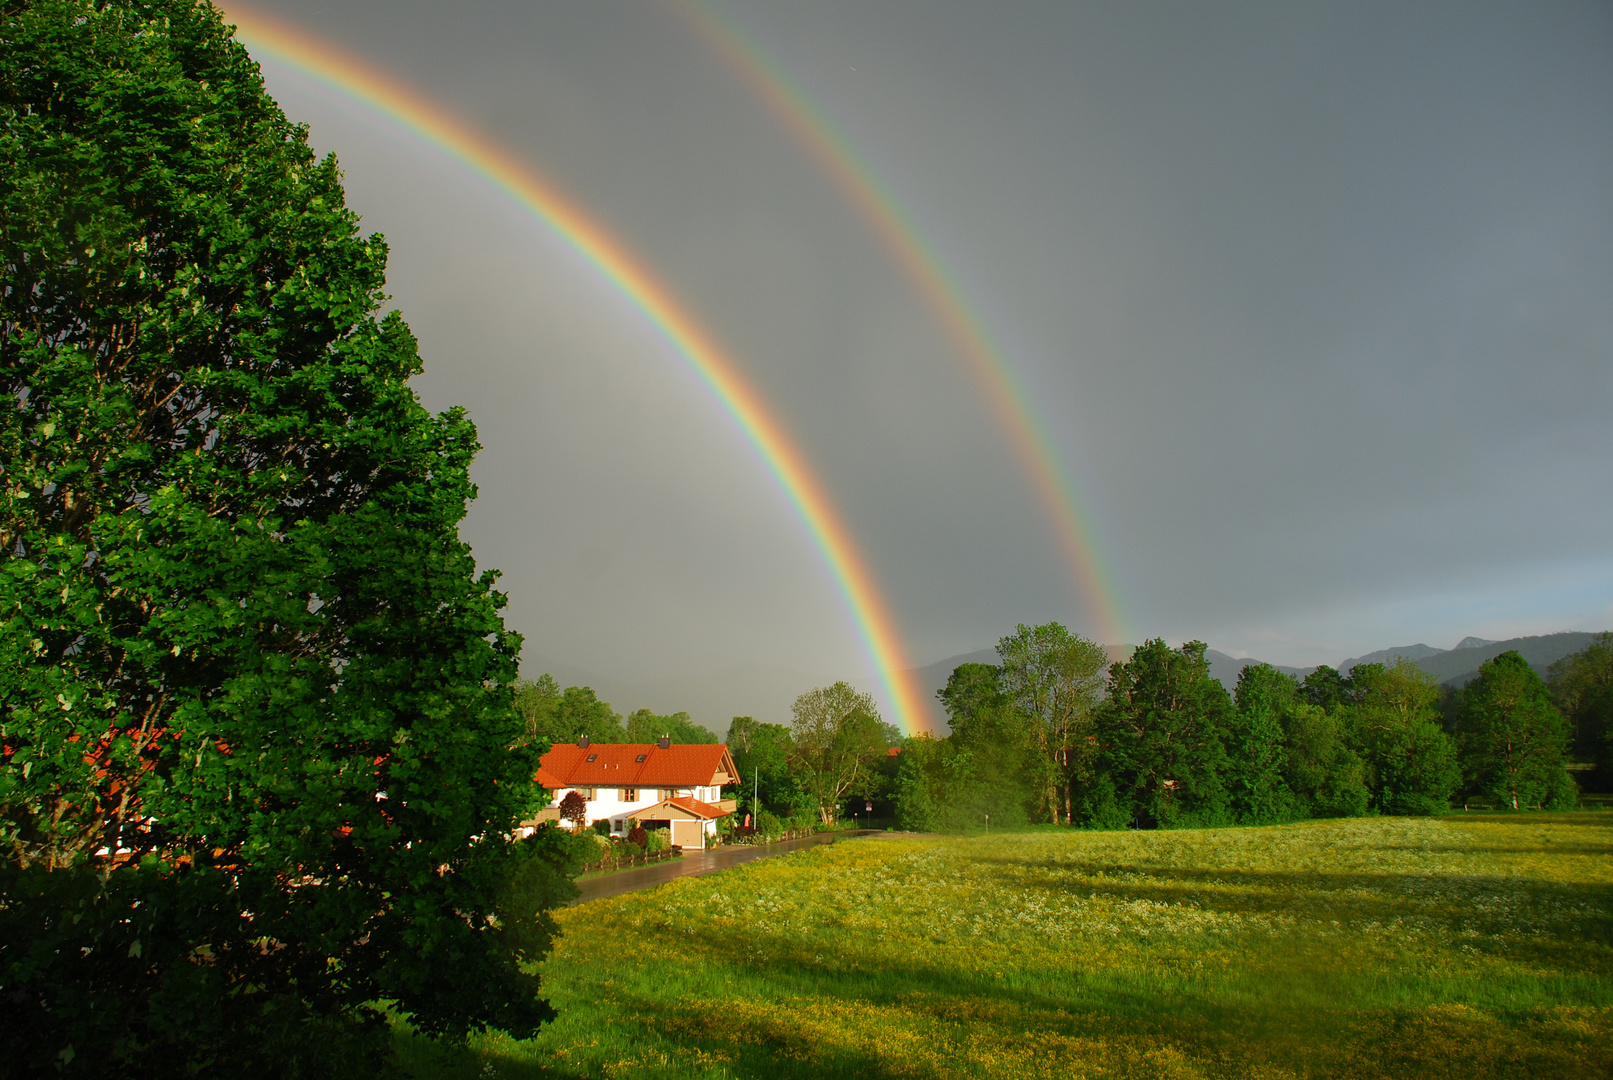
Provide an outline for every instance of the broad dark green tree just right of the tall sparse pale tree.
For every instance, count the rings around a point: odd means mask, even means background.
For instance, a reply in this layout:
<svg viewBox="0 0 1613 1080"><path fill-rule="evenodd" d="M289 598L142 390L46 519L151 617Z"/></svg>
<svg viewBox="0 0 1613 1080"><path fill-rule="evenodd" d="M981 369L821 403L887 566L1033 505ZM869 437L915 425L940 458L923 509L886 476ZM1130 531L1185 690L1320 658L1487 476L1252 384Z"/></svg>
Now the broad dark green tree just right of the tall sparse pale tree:
<svg viewBox="0 0 1613 1080"><path fill-rule="evenodd" d="M1171 650L1155 638L1110 669L1097 712L1102 746L1084 819L1098 827L1132 819L1144 827L1232 820L1223 777L1232 700L1210 675L1205 643Z"/></svg>

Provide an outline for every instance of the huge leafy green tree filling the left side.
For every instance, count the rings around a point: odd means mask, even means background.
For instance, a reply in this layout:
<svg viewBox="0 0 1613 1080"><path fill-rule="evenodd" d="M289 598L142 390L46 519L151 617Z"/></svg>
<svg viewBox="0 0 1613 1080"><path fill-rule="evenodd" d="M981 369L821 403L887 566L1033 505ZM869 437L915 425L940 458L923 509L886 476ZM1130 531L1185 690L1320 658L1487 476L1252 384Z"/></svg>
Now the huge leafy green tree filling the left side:
<svg viewBox="0 0 1613 1080"><path fill-rule="evenodd" d="M382 1017L550 1016L571 888L337 164L218 13L0 5L0 1048L369 1074Z"/></svg>

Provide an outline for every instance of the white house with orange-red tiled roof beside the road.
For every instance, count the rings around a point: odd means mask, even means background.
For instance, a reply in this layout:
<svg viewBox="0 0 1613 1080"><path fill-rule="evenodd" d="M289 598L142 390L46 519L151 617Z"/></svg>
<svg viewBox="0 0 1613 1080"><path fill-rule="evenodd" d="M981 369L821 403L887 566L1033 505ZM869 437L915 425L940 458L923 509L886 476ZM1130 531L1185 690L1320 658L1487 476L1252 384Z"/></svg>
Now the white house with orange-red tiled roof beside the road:
<svg viewBox="0 0 1613 1080"><path fill-rule="evenodd" d="M587 824L608 820L615 835L627 819L645 829L671 829L682 848L703 848L716 835L716 820L734 812L723 798L724 783L737 783L734 758L723 745L608 743L587 738L550 748L537 767L537 782L550 804L537 820L558 820L560 800L577 791L587 800Z"/></svg>

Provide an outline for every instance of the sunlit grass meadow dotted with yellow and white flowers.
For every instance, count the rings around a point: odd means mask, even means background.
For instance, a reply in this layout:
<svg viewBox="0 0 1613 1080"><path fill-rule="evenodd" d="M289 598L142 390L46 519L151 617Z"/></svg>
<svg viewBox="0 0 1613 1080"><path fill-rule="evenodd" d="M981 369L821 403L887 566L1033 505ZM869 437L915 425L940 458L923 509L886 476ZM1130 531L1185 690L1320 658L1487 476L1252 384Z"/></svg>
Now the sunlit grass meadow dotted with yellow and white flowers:
<svg viewBox="0 0 1613 1080"><path fill-rule="evenodd" d="M418 1077L1613 1075L1613 814L847 840L565 911Z"/></svg>

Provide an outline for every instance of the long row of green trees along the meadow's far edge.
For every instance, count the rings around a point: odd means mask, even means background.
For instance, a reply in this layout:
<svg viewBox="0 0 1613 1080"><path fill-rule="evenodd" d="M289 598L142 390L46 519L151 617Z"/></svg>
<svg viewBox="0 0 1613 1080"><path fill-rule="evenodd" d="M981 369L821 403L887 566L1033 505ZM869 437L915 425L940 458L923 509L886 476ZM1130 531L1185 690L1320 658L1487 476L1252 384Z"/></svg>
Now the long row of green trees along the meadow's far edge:
<svg viewBox="0 0 1613 1080"><path fill-rule="evenodd" d="M939 692L952 733L908 740L903 827L1265 824L1432 814L1455 796L1566 808L1576 729L1560 706L1602 724L1603 756L1613 711L1607 637L1553 669L1553 687L1503 653L1460 692L1400 661L1303 682L1250 666L1227 693L1202 642L1150 640L1107 666L1058 624L1021 625L997 651Z"/></svg>

